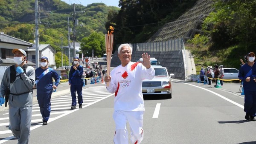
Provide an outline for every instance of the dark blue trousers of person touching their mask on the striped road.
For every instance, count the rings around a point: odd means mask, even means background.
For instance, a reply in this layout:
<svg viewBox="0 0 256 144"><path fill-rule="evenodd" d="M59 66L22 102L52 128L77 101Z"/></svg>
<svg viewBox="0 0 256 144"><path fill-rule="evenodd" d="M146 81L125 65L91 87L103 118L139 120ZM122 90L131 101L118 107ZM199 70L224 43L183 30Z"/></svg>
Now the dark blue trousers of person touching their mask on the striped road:
<svg viewBox="0 0 256 144"><path fill-rule="evenodd" d="M77 92L77 99L78 103L82 104L83 103L83 96L82 96L82 88L83 85L70 85L70 92L71 92L71 97L72 97L72 106L76 106L76 92Z"/></svg>

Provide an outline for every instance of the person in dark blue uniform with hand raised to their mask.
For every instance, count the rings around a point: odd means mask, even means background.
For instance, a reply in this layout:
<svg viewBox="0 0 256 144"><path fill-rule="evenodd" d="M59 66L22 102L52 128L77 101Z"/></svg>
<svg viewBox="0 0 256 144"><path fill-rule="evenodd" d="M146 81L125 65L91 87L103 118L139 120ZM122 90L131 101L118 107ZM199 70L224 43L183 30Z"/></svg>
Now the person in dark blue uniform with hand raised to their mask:
<svg viewBox="0 0 256 144"><path fill-rule="evenodd" d="M72 96L72 104L71 110L76 109L76 92L79 103L79 108L82 108L83 96L82 96L82 88L83 88L83 80L82 75L84 69L81 65L79 65L79 57L74 57L73 59L74 65L70 68L68 84L70 85L70 92Z"/></svg>

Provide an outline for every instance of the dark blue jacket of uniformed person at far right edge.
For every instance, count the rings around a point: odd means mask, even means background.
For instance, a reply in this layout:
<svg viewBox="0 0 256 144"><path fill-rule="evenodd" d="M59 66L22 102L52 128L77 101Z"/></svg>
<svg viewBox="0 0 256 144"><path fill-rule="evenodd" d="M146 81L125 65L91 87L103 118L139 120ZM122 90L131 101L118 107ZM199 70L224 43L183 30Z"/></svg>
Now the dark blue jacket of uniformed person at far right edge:
<svg viewBox="0 0 256 144"><path fill-rule="evenodd" d="M250 65L248 65L247 63L244 64L243 66L240 67L239 69L239 74L238 74L238 78L241 79L241 81L243 82L243 87L244 90L248 90L248 91L256 91L256 82L253 81L253 76L252 74L250 74L250 82L246 82L246 75L247 73L252 69L252 67Z"/></svg>

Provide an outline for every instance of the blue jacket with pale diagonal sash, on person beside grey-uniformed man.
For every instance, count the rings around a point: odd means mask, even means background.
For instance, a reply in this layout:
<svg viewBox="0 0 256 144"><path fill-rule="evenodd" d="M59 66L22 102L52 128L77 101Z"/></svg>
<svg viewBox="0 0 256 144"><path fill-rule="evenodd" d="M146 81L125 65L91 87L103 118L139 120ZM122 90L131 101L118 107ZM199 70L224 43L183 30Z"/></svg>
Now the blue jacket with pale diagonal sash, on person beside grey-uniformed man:
<svg viewBox="0 0 256 144"><path fill-rule="evenodd" d="M46 70L49 70L47 68ZM37 68L35 70L35 80L37 81L39 79L39 76L46 71L42 69L41 67ZM52 92L52 77L55 79L55 85L58 87L58 84L60 82L60 77L58 76L58 73L56 73L54 70L49 71L46 75L44 75L37 83L37 93L48 93Z"/></svg>

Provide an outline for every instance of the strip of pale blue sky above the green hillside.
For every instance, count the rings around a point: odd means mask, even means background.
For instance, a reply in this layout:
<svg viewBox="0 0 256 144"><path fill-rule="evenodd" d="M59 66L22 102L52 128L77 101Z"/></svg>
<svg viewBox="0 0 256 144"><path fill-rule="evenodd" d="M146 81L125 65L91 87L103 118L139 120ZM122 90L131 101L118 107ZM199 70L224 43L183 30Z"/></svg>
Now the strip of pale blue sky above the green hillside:
<svg viewBox="0 0 256 144"><path fill-rule="evenodd" d="M67 4L82 4L83 6L87 6L91 3L105 3L107 6L116 6L118 7L119 0L61 0L66 2Z"/></svg>

